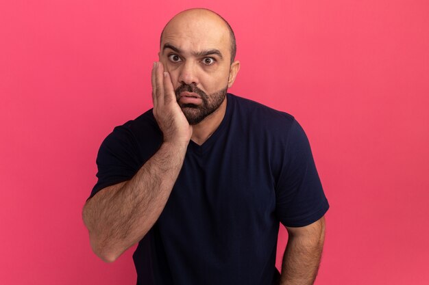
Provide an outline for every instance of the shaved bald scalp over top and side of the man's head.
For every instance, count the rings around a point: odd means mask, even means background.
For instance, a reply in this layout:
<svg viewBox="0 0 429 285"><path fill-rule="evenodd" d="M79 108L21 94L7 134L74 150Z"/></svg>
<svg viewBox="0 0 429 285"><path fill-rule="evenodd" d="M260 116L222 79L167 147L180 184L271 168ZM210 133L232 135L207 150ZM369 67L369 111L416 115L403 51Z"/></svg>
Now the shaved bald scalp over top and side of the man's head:
<svg viewBox="0 0 429 285"><path fill-rule="evenodd" d="M171 18L164 29L162 29L160 48L162 49L164 37L168 38L171 36L171 33L177 33L177 31L186 31L189 33L197 29L203 30L205 33L217 33L220 37L223 36L222 33L225 33L230 45L230 62L234 62L236 41L230 24L219 14L203 8L185 10Z"/></svg>

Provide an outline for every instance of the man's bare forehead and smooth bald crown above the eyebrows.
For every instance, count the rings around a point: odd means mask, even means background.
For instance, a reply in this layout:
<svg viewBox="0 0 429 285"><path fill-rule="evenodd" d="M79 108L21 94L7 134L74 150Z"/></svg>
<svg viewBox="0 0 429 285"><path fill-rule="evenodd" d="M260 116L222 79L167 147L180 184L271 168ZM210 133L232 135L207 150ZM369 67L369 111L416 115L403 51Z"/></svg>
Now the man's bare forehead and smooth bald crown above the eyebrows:
<svg viewBox="0 0 429 285"><path fill-rule="evenodd" d="M230 33L226 24L217 16L179 14L164 28L161 49L166 43L189 52L218 49L226 56L230 49Z"/></svg>

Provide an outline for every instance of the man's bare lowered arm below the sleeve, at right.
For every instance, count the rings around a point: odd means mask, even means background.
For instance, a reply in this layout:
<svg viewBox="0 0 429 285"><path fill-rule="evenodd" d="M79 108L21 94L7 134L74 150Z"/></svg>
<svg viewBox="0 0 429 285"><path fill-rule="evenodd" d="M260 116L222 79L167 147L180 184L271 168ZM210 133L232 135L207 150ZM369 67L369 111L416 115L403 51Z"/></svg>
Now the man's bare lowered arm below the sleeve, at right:
<svg viewBox="0 0 429 285"><path fill-rule="evenodd" d="M325 218L308 226L286 227L289 234L283 256L280 285L312 285L325 240Z"/></svg>

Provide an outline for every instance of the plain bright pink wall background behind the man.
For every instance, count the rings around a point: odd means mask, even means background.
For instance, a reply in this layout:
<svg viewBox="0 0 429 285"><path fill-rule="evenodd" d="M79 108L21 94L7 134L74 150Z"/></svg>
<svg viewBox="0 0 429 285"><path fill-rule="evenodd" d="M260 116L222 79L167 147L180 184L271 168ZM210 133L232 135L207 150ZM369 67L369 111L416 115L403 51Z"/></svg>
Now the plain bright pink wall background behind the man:
<svg viewBox="0 0 429 285"><path fill-rule="evenodd" d="M1 1L0 284L135 284L132 251L91 252L82 206L102 139L151 107L162 27L195 6L236 32L230 92L306 129L331 205L316 284L429 284L428 1L215 2Z"/></svg>

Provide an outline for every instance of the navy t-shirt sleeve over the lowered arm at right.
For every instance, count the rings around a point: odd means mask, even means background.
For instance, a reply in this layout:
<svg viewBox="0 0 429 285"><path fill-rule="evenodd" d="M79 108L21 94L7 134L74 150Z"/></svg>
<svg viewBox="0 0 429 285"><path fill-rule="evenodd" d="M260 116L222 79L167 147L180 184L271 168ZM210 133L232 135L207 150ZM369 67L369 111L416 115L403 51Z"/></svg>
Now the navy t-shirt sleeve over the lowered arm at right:
<svg viewBox="0 0 429 285"><path fill-rule="evenodd" d="M329 204L307 136L296 120L291 125L282 157L275 189L276 215L284 226L308 226L323 217Z"/></svg>

